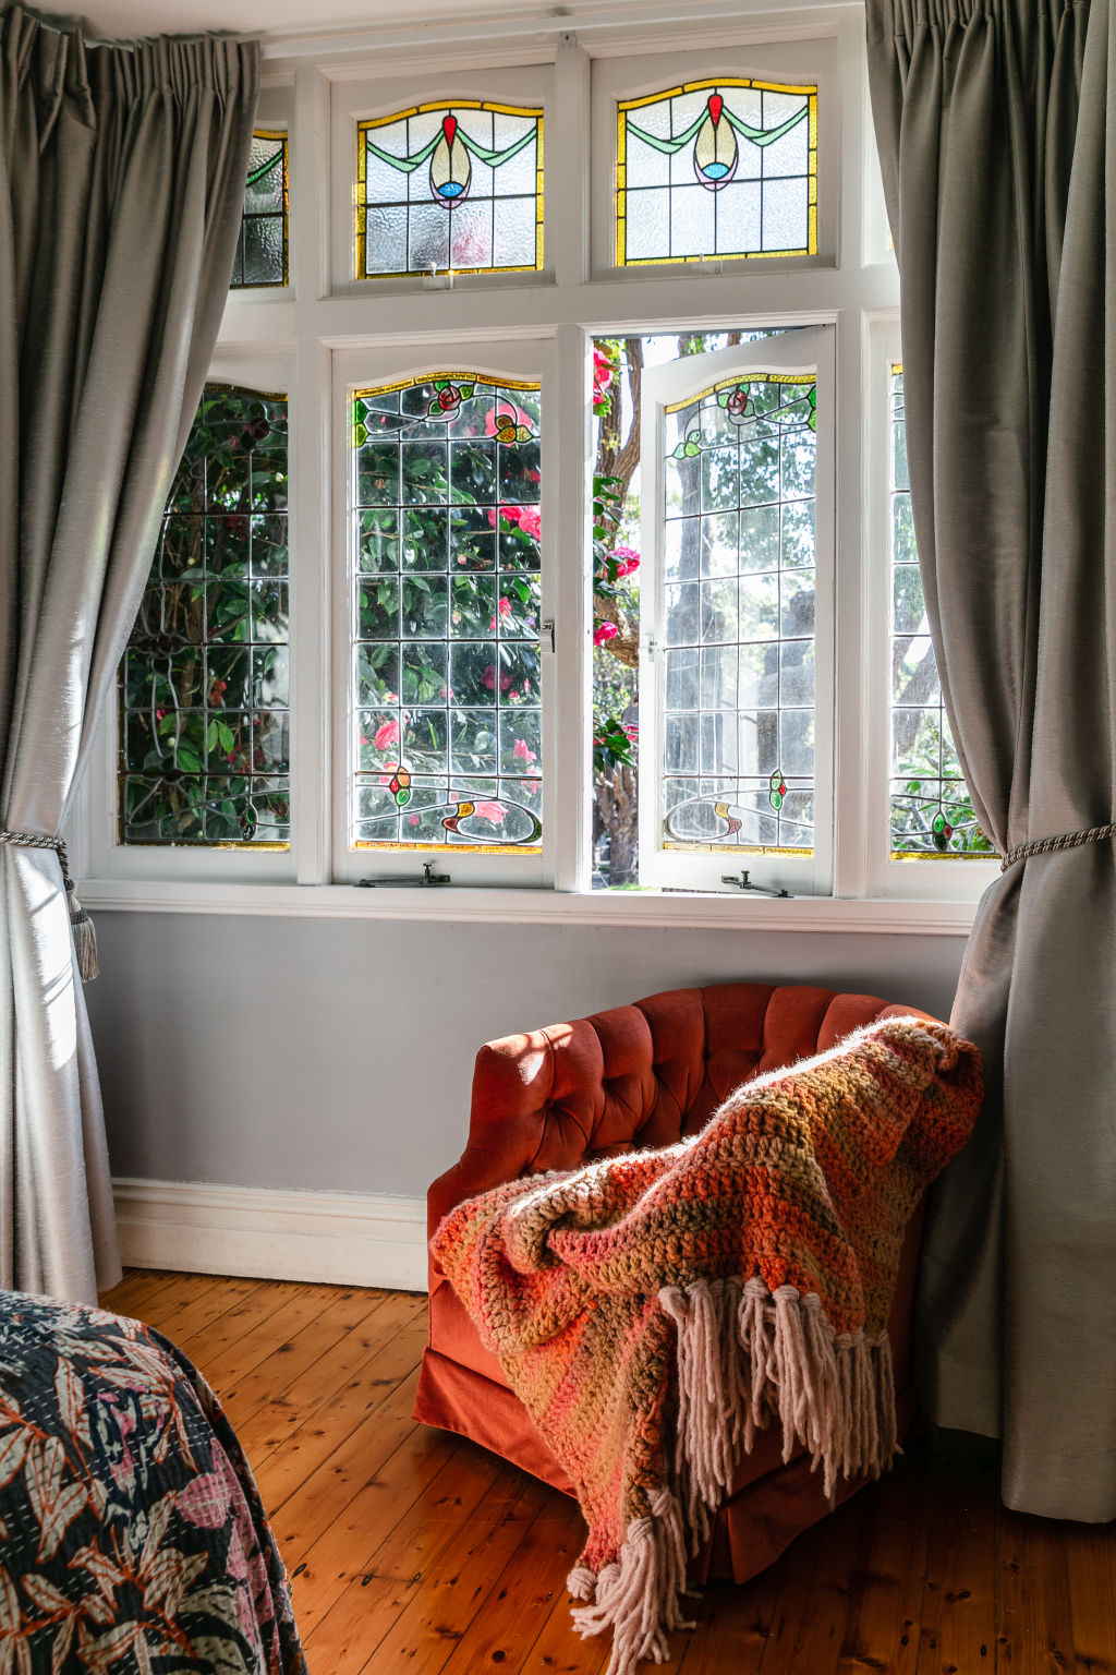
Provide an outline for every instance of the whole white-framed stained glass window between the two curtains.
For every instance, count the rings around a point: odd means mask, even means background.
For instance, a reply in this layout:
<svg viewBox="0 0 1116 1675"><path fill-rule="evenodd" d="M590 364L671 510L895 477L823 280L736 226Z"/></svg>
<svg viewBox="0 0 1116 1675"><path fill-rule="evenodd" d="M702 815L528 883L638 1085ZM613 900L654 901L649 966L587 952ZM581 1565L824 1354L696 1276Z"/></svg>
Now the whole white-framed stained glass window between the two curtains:
<svg viewBox="0 0 1116 1675"><path fill-rule="evenodd" d="M84 871L631 923L974 896L862 18L500 27L271 60Z"/></svg>

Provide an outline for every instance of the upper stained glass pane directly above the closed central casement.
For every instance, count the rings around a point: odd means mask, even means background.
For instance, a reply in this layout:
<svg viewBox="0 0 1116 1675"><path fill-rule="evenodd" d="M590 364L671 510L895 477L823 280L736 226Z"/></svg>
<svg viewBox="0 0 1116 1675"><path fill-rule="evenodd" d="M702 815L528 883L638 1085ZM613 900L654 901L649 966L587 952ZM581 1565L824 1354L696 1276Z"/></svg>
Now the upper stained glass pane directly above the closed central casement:
<svg viewBox="0 0 1116 1675"><path fill-rule="evenodd" d="M542 111L417 106L356 124L356 278L542 266Z"/></svg>

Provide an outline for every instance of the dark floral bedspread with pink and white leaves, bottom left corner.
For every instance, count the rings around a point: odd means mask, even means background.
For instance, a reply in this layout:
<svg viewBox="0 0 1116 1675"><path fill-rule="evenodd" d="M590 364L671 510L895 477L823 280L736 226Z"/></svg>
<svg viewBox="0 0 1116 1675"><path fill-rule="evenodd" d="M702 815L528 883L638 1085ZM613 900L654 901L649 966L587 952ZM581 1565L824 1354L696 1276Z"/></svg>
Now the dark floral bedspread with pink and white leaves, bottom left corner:
<svg viewBox="0 0 1116 1675"><path fill-rule="evenodd" d="M306 1675L233 1427L137 1320L0 1291L0 1675Z"/></svg>

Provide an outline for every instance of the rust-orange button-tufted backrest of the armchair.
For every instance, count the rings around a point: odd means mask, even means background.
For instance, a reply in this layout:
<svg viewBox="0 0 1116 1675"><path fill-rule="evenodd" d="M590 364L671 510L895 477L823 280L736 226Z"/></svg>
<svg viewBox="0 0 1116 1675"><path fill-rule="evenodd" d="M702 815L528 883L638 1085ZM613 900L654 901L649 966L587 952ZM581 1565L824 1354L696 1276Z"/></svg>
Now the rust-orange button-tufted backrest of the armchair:
<svg viewBox="0 0 1116 1675"><path fill-rule="evenodd" d="M748 1077L910 1013L875 995L718 983L489 1042L474 1070L468 1144L428 1193L430 1231L453 1204L520 1174L696 1134Z"/></svg>

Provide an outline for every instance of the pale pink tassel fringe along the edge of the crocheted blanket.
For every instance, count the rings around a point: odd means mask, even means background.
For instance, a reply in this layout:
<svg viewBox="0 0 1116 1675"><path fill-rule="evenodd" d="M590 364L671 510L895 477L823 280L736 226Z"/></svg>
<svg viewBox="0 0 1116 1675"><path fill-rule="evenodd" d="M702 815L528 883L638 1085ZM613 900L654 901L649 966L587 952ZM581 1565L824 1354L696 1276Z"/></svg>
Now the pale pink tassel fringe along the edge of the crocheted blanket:
<svg viewBox="0 0 1116 1675"><path fill-rule="evenodd" d="M693 1628L681 1611L686 1559L773 1419L783 1461L801 1442L830 1501L838 1472L878 1477L900 1452L885 1332L835 1333L817 1293L768 1291L758 1278L664 1286L659 1301L678 1330L673 1486L651 1501L649 1518L632 1519L612 1564L597 1574L577 1566L567 1581L574 1598L591 1601L574 1610L577 1631L612 1630L607 1675L632 1675L639 1658L666 1663L668 1633Z"/></svg>

